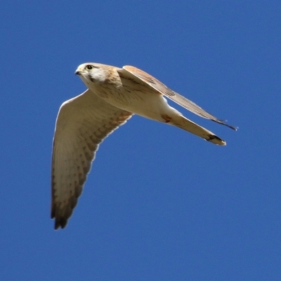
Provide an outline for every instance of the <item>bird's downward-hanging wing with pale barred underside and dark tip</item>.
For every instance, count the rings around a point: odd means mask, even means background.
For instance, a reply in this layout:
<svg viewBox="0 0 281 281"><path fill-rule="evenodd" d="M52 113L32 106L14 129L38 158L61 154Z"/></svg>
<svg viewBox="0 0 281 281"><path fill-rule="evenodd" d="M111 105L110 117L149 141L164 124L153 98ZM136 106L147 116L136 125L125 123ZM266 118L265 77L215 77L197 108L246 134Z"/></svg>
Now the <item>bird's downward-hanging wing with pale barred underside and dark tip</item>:
<svg viewBox="0 0 281 281"><path fill-rule="evenodd" d="M131 117L90 90L67 100L55 124L51 218L64 228L77 204L98 145Z"/></svg>

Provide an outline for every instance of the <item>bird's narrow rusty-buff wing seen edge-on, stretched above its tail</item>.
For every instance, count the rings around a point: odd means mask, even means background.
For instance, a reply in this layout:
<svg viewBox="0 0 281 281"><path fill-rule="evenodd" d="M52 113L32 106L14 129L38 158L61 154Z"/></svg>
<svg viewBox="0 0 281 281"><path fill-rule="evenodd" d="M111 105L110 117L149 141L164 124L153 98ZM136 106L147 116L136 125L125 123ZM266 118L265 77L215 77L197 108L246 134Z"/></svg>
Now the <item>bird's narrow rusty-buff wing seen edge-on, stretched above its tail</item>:
<svg viewBox="0 0 281 281"><path fill-rule="evenodd" d="M155 89L159 93L162 93L167 98L170 98L175 103L178 103L178 105L183 106L185 109L190 110L196 115L199 115L207 119L211 119L212 121L217 122L219 124L226 125L231 129L234 129L235 131L237 130L235 126L228 125L226 124L225 121L214 117L214 115L209 114L207 111L203 110L201 107L193 103L191 100L188 100L188 98L185 98L184 96L181 96L179 93L172 91L162 82L157 80L155 77L152 77L150 74L144 72L143 70L139 70L138 68L130 65L125 65L121 70L118 70L118 72L120 72L123 76L127 76L131 79L135 79L138 82L142 81L143 83L150 86L152 89Z"/></svg>

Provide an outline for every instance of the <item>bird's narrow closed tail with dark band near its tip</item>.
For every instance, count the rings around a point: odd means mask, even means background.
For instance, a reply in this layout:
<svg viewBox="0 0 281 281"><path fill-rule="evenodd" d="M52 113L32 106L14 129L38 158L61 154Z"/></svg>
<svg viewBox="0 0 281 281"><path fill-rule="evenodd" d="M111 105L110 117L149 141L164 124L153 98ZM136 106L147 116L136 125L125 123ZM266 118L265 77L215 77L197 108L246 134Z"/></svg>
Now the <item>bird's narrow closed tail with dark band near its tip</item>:
<svg viewBox="0 0 281 281"><path fill-rule="evenodd" d="M200 138L204 138L206 141L209 141L216 145L226 145L226 141L223 141L221 138L218 138L218 136L216 136L211 131L208 131L202 126L195 124L194 122L185 118L183 115L173 117L169 124L172 124L174 126L177 126L178 128L193 133L196 136L200 136Z"/></svg>

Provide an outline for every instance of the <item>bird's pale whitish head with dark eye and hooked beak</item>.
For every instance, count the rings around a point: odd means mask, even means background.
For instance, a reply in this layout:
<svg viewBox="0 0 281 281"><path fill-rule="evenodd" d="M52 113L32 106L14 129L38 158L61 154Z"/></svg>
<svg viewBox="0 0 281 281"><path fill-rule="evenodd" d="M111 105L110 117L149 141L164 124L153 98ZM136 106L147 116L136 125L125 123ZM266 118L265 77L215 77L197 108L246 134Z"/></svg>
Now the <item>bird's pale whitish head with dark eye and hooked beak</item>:
<svg viewBox="0 0 281 281"><path fill-rule="evenodd" d="M107 71L105 67L98 63L83 63L79 65L75 74L89 86L91 83L103 83L107 79Z"/></svg>

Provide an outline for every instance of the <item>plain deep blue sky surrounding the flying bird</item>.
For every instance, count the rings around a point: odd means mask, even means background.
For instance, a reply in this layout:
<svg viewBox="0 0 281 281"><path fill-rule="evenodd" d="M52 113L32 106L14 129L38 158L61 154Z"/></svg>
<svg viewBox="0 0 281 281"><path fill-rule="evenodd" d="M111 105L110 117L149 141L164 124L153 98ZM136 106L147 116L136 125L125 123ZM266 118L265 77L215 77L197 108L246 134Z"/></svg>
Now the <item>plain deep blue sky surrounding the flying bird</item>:
<svg viewBox="0 0 281 281"><path fill-rule="evenodd" d="M280 1L0 6L1 280L281 280ZM89 61L135 65L240 129L180 109L222 148L133 117L55 231L55 118Z"/></svg>

